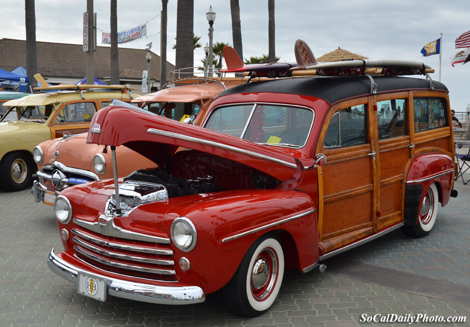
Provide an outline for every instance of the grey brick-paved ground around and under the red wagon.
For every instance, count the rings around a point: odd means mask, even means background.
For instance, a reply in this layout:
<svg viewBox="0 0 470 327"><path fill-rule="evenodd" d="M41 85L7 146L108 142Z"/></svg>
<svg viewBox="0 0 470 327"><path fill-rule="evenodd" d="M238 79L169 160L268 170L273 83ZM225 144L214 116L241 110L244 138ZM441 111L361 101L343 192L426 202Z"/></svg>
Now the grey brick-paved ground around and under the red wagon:
<svg viewBox="0 0 470 327"><path fill-rule="evenodd" d="M396 274L404 271L437 278L456 290L459 285L470 286L470 184L464 186L458 181L456 189L459 197L439 208L436 226L428 237L412 239L396 231L328 262L338 266L352 260L368 267L390 268ZM0 191L0 208L1 327L408 325L361 323L364 313L465 315L467 323L442 326L469 326L468 305L342 276L328 268L323 274L317 270L308 274L287 271L271 310L253 319L232 314L217 294L209 294L205 303L190 306L151 305L111 296L106 303L98 302L77 294L74 284L47 268L51 247L60 250L62 246L52 207L35 203L30 191L25 190Z"/></svg>

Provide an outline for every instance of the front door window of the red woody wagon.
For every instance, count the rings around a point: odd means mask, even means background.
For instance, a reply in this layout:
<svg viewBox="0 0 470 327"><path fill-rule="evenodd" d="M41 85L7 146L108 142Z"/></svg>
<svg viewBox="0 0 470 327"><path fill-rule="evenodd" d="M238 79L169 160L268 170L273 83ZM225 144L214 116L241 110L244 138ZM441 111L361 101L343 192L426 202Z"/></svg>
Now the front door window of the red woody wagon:
<svg viewBox="0 0 470 327"><path fill-rule="evenodd" d="M342 109L333 114L324 147L350 147L367 143L366 105Z"/></svg>

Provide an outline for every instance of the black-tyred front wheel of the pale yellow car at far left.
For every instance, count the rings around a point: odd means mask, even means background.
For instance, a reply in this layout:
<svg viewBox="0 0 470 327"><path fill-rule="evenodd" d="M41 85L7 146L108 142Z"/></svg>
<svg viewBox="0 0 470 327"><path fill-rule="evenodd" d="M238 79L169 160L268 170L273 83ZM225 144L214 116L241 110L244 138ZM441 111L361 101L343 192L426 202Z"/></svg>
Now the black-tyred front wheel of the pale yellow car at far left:
<svg viewBox="0 0 470 327"><path fill-rule="evenodd" d="M21 152L6 154L0 162L0 186L6 191L21 191L33 180L32 163Z"/></svg>

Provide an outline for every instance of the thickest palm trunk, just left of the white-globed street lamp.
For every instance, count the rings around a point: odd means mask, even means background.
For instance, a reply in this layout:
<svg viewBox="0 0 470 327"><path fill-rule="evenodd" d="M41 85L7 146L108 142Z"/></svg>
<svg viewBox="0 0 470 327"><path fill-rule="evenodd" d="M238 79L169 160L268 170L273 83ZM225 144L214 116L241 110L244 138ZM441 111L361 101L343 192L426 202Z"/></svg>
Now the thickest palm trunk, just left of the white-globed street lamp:
<svg viewBox="0 0 470 327"><path fill-rule="evenodd" d="M194 65L194 0L178 0L176 6L176 69ZM192 75L193 71L189 71Z"/></svg>

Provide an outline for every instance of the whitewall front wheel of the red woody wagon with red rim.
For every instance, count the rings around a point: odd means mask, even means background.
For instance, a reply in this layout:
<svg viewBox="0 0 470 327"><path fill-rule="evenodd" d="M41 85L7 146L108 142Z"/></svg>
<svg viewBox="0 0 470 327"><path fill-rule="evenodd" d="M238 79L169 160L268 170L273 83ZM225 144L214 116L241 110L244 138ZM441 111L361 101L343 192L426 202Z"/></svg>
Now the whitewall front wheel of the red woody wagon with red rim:
<svg viewBox="0 0 470 327"><path fill-rule="evenodd" d="M224 287L226 304L242 316L257 316L274 303L283 277L284 253L279 240L260 238L250 246Z"/></svg>

